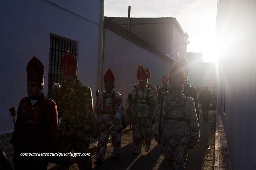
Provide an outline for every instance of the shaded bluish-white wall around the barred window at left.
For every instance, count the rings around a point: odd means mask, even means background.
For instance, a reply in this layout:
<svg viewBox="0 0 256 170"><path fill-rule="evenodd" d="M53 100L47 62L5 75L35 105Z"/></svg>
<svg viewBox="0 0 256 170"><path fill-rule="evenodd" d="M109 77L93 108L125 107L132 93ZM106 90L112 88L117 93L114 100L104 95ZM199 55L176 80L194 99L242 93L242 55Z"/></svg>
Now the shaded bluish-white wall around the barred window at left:
<svg viewBox="0 0 256 170"><path fill-rule="evenodd" d="M0 15L0 134L13 130L9 108L17 111L27 96L26 66L34 55L45 66L47 96L51 33L78 42L78 79L96 91L100 0L3 1Z"/></svg>

